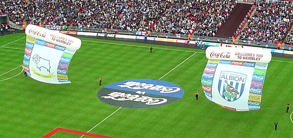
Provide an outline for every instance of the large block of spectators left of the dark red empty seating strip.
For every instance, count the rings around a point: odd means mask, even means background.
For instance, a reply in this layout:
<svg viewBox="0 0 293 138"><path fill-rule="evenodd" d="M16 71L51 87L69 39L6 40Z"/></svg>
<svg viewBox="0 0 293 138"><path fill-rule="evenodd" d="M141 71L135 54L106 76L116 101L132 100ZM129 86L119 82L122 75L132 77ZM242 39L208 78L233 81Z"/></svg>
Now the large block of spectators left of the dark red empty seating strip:
<svg viewBox="0 0 293 138"><path fill-rule="evenodd" d="M214 36L235 0L2 0L17 24L151 30Z"/></svg>

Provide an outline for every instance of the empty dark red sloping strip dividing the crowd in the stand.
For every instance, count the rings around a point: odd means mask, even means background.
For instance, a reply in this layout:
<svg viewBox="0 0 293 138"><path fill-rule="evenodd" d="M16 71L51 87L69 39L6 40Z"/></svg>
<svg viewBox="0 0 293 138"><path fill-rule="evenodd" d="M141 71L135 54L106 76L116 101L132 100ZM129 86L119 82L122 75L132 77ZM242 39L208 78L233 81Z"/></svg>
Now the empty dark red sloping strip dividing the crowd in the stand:
<svg viewBox="0 0 293 138"><path fill-rule="evenodd" d="M229 18L218 29L215 37L218 38L230 38L236 32L239 24L244 20L246 14L251 9L251 4L238 3L234 8Z"/></svg>

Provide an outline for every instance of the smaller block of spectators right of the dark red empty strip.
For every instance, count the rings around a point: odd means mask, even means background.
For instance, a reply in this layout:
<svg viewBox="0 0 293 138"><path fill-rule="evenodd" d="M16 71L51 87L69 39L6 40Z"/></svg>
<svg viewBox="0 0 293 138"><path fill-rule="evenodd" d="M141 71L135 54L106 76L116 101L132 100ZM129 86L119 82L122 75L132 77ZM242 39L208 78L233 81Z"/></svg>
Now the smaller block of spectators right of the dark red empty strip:
<svg viewBox="0 0 293 138"><path fill-rule="evenodd" d="M240 40L284 42L293 23L293 2L262 2L240 32Z"/></svg>

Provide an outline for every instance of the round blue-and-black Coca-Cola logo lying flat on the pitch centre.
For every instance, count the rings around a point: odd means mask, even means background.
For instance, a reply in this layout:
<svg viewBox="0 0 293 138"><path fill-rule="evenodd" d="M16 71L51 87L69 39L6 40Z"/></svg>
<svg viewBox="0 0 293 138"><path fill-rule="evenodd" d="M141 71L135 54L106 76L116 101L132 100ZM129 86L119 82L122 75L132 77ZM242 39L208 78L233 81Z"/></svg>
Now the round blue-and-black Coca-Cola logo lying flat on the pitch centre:
<svg viewBox="0 0 293 138"><path fill-rule="evenodd" d="M150 108L173 103L184 95L184 91L167 81L134 79L109 84L97 95L101 101L113 106Z"/></svg>

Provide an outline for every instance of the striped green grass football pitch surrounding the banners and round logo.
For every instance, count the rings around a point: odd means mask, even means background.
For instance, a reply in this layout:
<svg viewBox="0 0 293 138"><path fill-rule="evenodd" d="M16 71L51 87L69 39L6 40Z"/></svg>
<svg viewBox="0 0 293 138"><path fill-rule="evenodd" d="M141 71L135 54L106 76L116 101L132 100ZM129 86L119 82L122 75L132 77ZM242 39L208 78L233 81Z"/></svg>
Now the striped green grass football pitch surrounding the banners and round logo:
<svg viewBox="0 0 293 138"><path fill-rule="evenodd" d="M25 34L0 37L0 138L42 138L56 128L70 132L56 131L50 138L90 138L78 132L117 138L293 137L293 109L286 113L286 104L293 104L293 59L272 57L262 109L233 112L204 96L205 50L80 39L68 69L72 83L54 85L24 77ZM184 96L144 109L111 106L97 97L104 86L130 79L171 82L183 88Z"/></svg>

